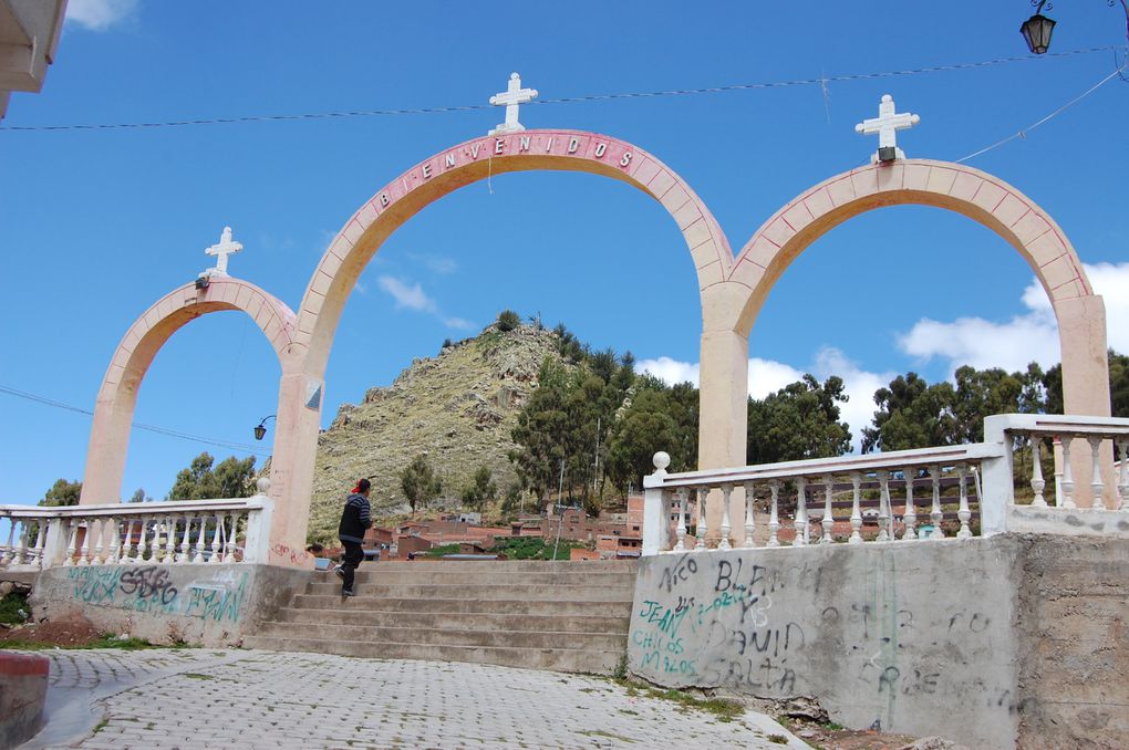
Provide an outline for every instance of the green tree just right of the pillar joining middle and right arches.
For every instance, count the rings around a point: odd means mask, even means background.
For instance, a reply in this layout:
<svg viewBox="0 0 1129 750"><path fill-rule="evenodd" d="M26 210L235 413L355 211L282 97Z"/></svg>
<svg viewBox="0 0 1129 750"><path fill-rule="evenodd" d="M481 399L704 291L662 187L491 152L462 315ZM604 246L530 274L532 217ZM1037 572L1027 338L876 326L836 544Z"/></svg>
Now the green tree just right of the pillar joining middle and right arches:
<svg viewBox="0 0 1129 750"><path fill-rule="evenodd" d="M847 398L841 378L821 383L811 374L763 400L750 398L749 462L842 456L850 450L850 430L839 421L839 404Z"/></svg>

